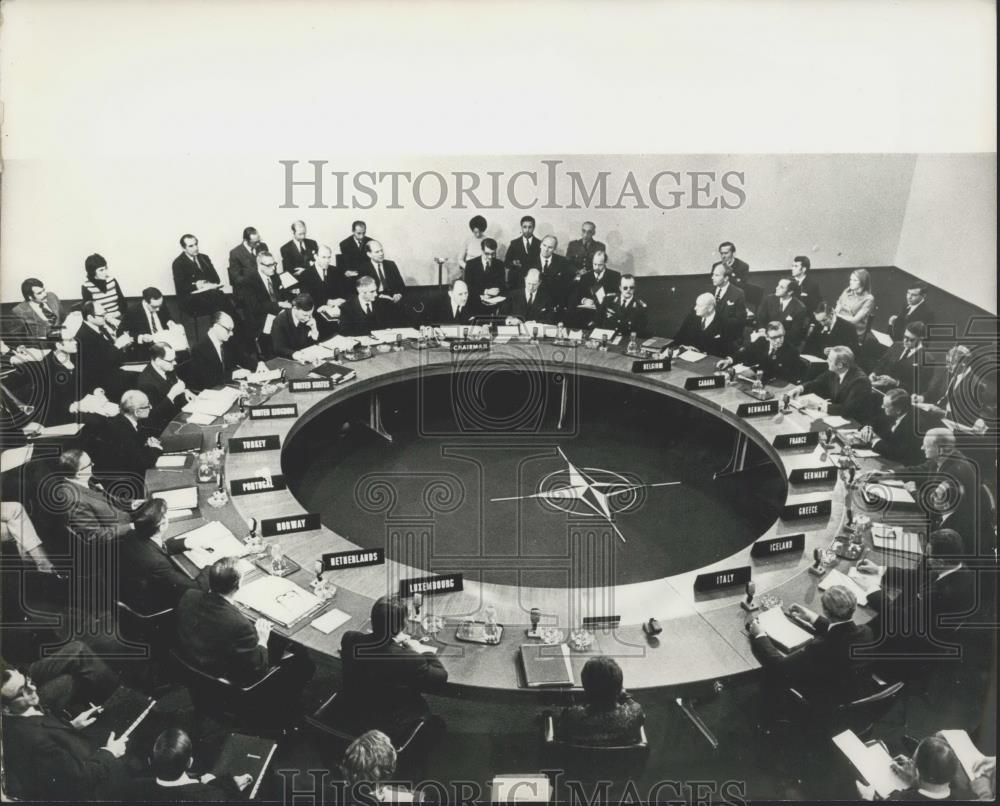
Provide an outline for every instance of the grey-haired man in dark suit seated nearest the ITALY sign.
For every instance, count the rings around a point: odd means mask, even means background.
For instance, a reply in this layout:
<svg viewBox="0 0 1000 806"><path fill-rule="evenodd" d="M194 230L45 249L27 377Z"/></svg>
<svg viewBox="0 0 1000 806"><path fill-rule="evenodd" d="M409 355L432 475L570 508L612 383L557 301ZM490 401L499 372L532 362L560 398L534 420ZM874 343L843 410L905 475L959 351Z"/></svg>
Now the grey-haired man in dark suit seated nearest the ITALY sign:
<svg viewBox="0 0 1000 806"><path fill-rule="evenodd" d="M832 710L857 693L851 648L872 643L872 631L867 625L854 623L857 599L842 585L825 590L820 602L822 615L800 604L789 607L793 616L811 624L816 632L812 641L790 654L778 649L756 618L747 625L747 632L754 657L764 667L766 684L807 688L817 694L811 701L825 703Z"/></svg>

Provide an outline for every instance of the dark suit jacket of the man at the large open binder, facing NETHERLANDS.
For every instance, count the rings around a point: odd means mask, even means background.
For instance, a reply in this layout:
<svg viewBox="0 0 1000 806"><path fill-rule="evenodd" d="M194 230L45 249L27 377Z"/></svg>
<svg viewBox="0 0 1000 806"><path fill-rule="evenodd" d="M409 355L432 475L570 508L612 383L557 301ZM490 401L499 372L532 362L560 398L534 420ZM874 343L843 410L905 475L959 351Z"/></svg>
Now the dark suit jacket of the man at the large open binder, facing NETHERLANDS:
<svg viewBox="0 0 1000 806"><path fill-rule="evenodd" d="M177 604L177 648L192 666L245 686L269 668L266 647L236 606L217 593L185 591Z"/></svg>

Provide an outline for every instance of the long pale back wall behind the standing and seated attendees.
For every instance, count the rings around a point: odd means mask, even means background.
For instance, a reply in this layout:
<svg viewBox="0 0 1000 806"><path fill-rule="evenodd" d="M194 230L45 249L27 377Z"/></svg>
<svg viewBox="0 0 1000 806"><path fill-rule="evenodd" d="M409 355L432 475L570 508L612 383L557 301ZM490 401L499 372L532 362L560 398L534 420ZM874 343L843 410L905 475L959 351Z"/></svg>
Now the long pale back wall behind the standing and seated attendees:
<svg viewBox="0 0 1000 806"><path fill-rule="evenodd" d="M317 155L315 158L319 159ZM564 209L540 209L546 201L542 159L561 159L556 201ZM342 171L487 171L504 172L505 180L520 170L539 174L538 204L517 209L501 194L503 209L481 212L488 232L503 245L518 233L524 213L538 220L536 232L556 234L560 252L579 237L585 219L597 224L598 239L607 243L614 267L640 275L707 272L717 259L720 241L731 240L737 254L753 269L784 269L792 256L808 254L817 267L889 265L893 262L913 174L912 155L718 155L718 156L567 156L567 157L385 157L338 163ZM659 171L714 172L713 197L735 203L718 177L730 171L743 175L746 201L737 209L692 209L689 184L682 205L664 210L652 204L650 179ZM571 203L571 183L565 172L578 171L589 186L601 171L609 172L608 206L615 204L631 172L637 179L645 209L623 200L625 209L565 209ZM312 177L303 159L296 178ZM289 225L303 218L309 234L336 251L354 218L368 222L369 234L381 240L387 257L395 260L407 282L436 282L435 256L448 256L446 277L457 274L455 256L469 237L468 220L477 211L424 209L412 194L400 193L402 209L387 209L388 184L379 204L370 210L310 209L310 188L297 188L300 208L281 209L285 202L285 169L277 159L178 159L156 161L10 160L3 175L3 219L0 229L0 298L20 297L19 283L42 277L62 297L80 295L84 258L99 252L127 294L146 285L173 292L170 263L180 252L178 238L191 232L200 239L225 277L229 249L239 243L242 229L252 225L277 253L290 237ZM484 178L484 186L488 180ZM518 184L522 203L534 198L529 182ZM348 185L349 187L349 185ZM425 202L433 203L436 184L428 183ZM670 183L661 185L666 202ZM332 177L324 181L324 202L335 203ZM367 197L357 194L362 203ZM448 204L456 194L449 192ZM708 197L700 197L702 203ZM480 194L481 201L488 199ZM578 197L578 203L581 199ZM348 202L349 203L349 200Z"/></svg>

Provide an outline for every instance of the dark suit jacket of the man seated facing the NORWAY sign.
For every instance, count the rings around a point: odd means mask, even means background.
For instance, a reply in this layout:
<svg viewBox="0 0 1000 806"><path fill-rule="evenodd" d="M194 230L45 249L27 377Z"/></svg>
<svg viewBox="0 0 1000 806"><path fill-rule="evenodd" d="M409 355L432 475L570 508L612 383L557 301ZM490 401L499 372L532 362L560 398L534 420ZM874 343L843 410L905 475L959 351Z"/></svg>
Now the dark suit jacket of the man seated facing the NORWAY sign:
<svg viewBox="0 0 1000 806"><path fill-rule="evenodd" d="M178 548L183 548L181 542ZM129 534L118 545L118 591L138 613L158 613L177 607L184 591L197 588L152 540Z"/></svg>

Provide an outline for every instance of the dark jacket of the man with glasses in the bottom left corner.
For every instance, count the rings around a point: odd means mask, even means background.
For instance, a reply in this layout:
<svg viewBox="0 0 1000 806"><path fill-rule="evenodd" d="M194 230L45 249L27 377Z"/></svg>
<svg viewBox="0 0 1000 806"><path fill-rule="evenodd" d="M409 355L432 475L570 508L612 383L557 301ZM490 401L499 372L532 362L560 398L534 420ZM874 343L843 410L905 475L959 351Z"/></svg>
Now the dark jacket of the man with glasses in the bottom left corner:
<svg viewBox="0 0 1000 806"><path fill-rule="evenodd" d="M76 728L51 714L3 718L6 785L25 800L99 799L124 775L124 759L94 750Z"/></svg>

